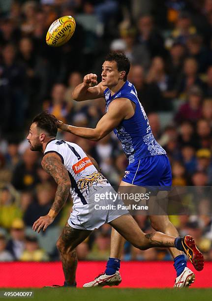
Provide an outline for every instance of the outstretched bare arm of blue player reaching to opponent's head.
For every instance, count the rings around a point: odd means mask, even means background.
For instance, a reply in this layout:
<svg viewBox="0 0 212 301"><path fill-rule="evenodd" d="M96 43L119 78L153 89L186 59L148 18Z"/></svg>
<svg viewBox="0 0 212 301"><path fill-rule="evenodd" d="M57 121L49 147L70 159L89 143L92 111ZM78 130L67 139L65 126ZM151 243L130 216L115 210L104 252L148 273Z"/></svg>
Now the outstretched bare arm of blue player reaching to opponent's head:
<svg viewBox="0 0 212 301"><path fill-rule="evenodd" d="M92 141L99 141L117 127L127 116L129 105L131 105L131 102L128 99L115 99L111 102L108 112L99 120L95 128L72 126L61 121L58 122L58 127L76 136Z"/></svg>

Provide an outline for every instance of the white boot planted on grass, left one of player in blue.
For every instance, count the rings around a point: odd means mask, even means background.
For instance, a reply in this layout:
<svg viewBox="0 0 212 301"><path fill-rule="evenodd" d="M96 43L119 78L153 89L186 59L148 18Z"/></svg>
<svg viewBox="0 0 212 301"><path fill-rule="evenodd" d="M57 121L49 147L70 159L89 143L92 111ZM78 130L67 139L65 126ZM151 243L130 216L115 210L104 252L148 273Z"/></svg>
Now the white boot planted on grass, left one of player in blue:
<svg viewBox="0 0 212 301"><path fill-rule="evenodd" d="M100 274L91 282L85 283L83 287L93 287L93 286L113 286L119 285L121 283L121 275L119 271L116 271L113 275Z"/></svg>

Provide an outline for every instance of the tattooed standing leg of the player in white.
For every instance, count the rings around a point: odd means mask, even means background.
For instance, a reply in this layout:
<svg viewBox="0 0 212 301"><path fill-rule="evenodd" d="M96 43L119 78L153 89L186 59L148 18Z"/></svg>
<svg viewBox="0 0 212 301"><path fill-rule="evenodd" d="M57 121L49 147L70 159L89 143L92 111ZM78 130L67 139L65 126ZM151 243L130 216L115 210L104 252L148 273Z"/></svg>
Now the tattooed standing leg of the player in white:
<svg viewBox="0 0 212 301"><path fill-rule="evenodd" d="M61 253L62 269L65 277L64 285L76 286L77 255L76 246L84 241L92 231L75 229L66 223L57 247Z"/></svg>

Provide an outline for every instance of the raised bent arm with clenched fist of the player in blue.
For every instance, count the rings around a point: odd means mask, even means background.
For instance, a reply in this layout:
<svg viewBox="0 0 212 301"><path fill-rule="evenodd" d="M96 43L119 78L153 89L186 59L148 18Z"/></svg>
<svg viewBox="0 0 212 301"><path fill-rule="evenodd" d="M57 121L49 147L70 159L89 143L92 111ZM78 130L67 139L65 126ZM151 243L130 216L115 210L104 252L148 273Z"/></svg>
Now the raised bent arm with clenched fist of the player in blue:
<svg viewBox="0 0 212 301"><path fill-rule="evenodd" d="M90 73L84 76L83 83L73 90L72 98L76 101L96 99L104 96L105 89L101 83L97 83L97 75Z"/></svg>

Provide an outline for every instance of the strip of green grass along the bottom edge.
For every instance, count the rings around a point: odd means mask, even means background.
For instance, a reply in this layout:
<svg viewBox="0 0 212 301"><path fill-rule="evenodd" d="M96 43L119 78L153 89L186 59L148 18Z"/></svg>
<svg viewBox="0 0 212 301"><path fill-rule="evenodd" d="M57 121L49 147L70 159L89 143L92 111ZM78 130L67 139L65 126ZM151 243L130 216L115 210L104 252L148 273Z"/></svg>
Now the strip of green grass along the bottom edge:
<svg viewBox="0 0 212 301"><path fill-rule="evenodd" d="M0 289L0 291L6 289ZM6 291L33 291L33 301L210 301L212 289L114 289L42 288ZM1 298L0 298L1 299ZM2 298L17 299L17 298ZM23 298L18 298L23 299ZM29 299L29 298L24 298Z"/></svg>

